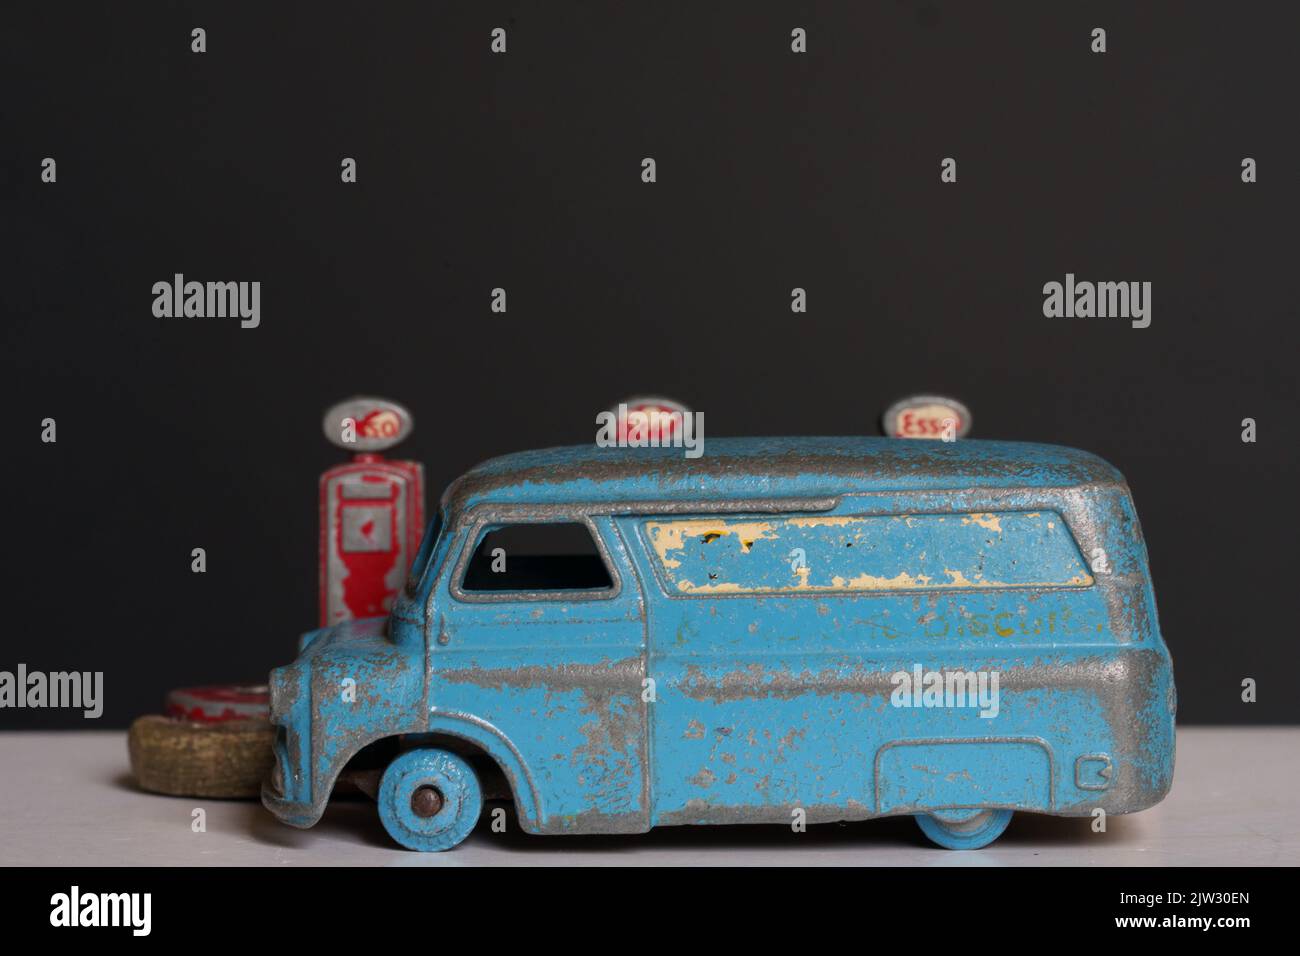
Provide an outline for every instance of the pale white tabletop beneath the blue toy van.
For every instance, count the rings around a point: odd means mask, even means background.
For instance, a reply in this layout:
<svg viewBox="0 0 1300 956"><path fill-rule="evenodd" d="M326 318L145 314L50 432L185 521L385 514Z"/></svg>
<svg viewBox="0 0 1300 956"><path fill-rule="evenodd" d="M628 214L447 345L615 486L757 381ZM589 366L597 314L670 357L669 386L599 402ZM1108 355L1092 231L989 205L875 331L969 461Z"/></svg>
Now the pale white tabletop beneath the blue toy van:
<svg viewBox="0 0 1300 956"><path fill-rule="evenodd" d="M478 830L448 853L396 848L374 806L337 801L312 830L256 801L140 792L121 731L0 734L0 865L1300 865L1300 728L1178 731L1174 790L1112 817L1018 814L982 851L930 847L910 819L809 827L663 827L634 836ZM192 829L205 812L205 832Z"/></svg>

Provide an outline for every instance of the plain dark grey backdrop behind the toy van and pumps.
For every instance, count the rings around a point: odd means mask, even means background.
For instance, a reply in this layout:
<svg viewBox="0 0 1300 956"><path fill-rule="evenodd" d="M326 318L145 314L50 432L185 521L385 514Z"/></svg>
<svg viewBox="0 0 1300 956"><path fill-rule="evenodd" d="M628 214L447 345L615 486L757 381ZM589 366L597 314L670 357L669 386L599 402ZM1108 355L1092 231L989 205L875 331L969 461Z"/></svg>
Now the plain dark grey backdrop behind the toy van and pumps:
<svg viewBox="0 0 1300 956"><path fill-rule="evenodd" d="M590 441L638 392L707 437L874 433L937 390L975 437L1128 476L1184 721L1295 721L1295 10L6 10L0 669L103 670L95 726L125 726L290 659L342 459L320 415L354 393L415 412L433 501L485 457ZM260 280L261 328L155 319L174 272ZM1152 326L1045 319L1066 272L1153 282Z"/></svg>

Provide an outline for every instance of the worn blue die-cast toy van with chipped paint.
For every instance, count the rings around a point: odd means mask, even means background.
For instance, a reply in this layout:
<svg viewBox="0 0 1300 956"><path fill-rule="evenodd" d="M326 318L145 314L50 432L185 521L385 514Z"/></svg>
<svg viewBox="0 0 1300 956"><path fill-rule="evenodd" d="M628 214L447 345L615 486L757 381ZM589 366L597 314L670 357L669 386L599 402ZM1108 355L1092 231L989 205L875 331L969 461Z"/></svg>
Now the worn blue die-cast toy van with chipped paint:
<svg viewBox="0 0 1300 956"><path fill-rule="evenodd" d="M263 801L341 779L402 845L485 799L532 834L1158 803L1175 695L1123 477L1074 449L890 438L568 447L458 479L387 619L272 672Z"/></svg>

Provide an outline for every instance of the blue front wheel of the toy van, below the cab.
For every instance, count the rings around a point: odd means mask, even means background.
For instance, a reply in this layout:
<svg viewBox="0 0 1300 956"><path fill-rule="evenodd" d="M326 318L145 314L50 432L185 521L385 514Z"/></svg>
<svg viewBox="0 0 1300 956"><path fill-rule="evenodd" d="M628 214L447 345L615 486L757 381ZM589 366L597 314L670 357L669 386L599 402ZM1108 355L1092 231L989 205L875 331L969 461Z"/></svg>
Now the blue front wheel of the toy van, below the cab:
<svg viewBox="0 0 1300 956"><path fill-rule="evenodd" d="M447 750L407 750L380 780L380 819L407 849L451 849L478 823L484 795L473 767Z"/></svg>

